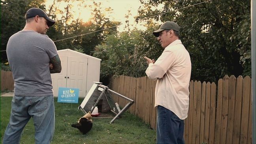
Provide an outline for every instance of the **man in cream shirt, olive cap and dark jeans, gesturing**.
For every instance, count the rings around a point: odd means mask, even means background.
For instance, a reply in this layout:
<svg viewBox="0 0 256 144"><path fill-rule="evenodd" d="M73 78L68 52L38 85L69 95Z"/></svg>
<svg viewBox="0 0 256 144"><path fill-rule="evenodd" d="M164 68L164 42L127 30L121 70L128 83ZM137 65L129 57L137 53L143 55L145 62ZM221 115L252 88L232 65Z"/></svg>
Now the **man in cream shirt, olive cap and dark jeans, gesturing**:
<svg viewBox="0 0 256 144"><path fill-rule="evenodd" d="M179 25L164 22L153 32L164 48L156 60L144 57L149 67L146 74L157 80L155 107L157 107L157 143L184 144L184 119L188 116L191 61L188 51L179 39Z"/></svg>

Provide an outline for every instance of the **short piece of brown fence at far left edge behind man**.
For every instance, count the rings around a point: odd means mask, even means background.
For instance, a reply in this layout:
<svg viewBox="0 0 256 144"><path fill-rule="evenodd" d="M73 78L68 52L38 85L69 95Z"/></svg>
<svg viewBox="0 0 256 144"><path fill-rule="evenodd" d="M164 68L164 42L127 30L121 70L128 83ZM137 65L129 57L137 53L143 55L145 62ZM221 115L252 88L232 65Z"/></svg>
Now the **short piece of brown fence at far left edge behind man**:
<svg viewBox="0 0 256 144"><path fill-rule="evenodd" d="M11 71L1 70L1 91L14 89L14 81Z"/></svg>

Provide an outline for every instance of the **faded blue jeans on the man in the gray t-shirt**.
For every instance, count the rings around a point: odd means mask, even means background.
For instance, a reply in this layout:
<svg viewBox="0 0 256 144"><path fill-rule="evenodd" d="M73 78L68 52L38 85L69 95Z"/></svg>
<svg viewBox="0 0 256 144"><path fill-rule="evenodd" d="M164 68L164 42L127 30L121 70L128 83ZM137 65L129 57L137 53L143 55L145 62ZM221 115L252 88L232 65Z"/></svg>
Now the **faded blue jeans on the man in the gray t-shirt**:
<svg viewBox="0 0 256 144"><path fill-rule="evenodd" d="M21 133L31 117L35 127L35 143L49 144L55 129L53 95L33 97L14 95L3 144L19 144Z"/></svg>

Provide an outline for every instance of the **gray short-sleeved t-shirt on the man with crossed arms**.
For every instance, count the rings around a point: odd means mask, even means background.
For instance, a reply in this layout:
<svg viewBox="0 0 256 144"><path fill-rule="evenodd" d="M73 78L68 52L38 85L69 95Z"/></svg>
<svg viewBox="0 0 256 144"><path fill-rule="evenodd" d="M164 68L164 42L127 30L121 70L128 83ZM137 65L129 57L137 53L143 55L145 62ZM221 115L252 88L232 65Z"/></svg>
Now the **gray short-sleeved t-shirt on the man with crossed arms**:
<svg viewBox="0 0 256 144"><path fill-rule="evenodd" d="M58 52L47 35L19 31L9 38L6 53L13 73L15 95L53 95L49 62Z"/></svg>

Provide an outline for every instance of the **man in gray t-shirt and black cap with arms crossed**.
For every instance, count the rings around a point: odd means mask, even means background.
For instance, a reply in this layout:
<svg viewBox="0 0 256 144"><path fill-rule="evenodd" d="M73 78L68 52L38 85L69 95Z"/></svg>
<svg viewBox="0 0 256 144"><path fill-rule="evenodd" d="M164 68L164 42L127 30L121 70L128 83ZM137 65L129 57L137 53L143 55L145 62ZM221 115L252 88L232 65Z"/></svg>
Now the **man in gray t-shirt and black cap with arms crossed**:
<svg viewBox="0 0 256 144"><path fill-rule="evenodd" d="M29 9L25 19L25 27L9 38L6 48L14 96L3 144L19 143L31 117L35 143L49 144L55 129L51 73L60 73L61 62L54 42L45 33L55 21L39 8Z"/></svg>

